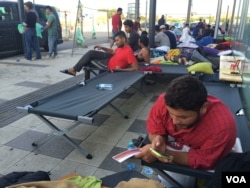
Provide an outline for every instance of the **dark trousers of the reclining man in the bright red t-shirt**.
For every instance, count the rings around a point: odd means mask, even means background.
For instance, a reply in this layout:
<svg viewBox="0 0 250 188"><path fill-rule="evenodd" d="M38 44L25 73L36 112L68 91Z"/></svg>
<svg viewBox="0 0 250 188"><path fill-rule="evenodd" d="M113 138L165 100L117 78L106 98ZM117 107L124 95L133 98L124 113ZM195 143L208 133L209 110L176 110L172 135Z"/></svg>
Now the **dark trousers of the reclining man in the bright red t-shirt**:
<svg viewBox="0 0 250 188"><path fill-rule="evenodd" d="M82 56L77 64L73 67L75 71L80 72L83 67L91 67L92 60L101 60L101 63L107 65L109 58L112 55L105 52L90 50Z"/></svg>

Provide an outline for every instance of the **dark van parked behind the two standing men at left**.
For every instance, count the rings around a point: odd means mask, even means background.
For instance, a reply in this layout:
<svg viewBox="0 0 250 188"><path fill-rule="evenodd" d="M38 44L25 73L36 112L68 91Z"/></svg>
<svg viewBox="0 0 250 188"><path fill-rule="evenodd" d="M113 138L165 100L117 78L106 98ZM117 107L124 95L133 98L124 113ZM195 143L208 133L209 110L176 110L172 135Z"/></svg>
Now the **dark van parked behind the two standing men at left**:
<svg viewBox="0 0 250 188"><path fill-rule="evenodd" d="M47 18L45 13L46 5L35 5L35 11L39 16L39 23L46 25ZM63 43L62 29L58 14L54 7L53 13L58 20L58 40L57 43ZM18 3L13 1L0 1L0 59L19 55L24 53L24 45L22 43L22 35L17 30L17 25L21 23L18 11ZM40 47L48 51L48 33L45 30L43 38L39 38Z"/></svg>

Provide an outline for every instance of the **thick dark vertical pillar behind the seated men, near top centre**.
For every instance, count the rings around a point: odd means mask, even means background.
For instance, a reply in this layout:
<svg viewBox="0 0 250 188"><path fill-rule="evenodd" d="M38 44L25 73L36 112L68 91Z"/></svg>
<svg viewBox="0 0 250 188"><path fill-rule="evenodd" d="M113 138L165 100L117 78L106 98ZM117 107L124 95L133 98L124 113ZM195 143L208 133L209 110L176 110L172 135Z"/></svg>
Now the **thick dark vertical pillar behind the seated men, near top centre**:
<svg viewBox="0 0 250 188"><path fill-rule="evenodd" d="M154 48L156 0L150 0L149 3L149 46Z"/></svg>

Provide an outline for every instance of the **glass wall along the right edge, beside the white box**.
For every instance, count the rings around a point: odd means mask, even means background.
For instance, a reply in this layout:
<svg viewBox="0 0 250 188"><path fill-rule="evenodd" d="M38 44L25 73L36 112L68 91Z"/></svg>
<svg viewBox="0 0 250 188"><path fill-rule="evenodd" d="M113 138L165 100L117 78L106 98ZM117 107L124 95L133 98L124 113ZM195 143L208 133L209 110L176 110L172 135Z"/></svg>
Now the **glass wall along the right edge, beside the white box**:
<svg viewBox="0 0 250 188"><path fill-rule="evenodd" d="M250 9L249 0L223 1L222 9L228 9L227 20L228 30L226 37L232 39L233 54L243 56L239 66L242 77L240 88L241 98L244 105L244 112L250 122ZM231 8L230 8L231 7ZM250 124L249 124L250 125Z"/></svg>

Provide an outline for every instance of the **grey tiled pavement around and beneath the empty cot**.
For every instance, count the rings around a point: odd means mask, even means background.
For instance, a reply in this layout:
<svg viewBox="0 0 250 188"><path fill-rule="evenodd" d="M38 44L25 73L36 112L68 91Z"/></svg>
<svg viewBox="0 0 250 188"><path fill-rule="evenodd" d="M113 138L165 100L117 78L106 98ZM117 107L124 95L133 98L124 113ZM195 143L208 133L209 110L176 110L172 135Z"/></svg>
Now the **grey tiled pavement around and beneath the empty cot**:
<svg viewBox="0 0 250 188"><path fill-rule="evenodd" d="M63 90L80 80L82 75L71 78L59 70L74 65L91 48L76 49L72 57L71 50L60 51L58 59L54 60L43 58L28 62L23 57L0 60L0 174L44 170L51 171L52 179L72 172L103 177L127 168L126 164L118 164L111 157L125 150L132 138L146 134L148 111L156 96L165 90L165 81L145 85L145 97L130 89L115 99L114 104L127 112L129 119L105 107L96 115L94 125L80 124L70 131L70 137L93 154L92 160L84 158L59 136L51 137L39 147L32 147L31 143L49 133L50 129L36 116L20 116L15 109L15 106ZM51 121L62 128L73 123L57 118L51 118ZM140 170L139 161L130 162Z"/></svg>

